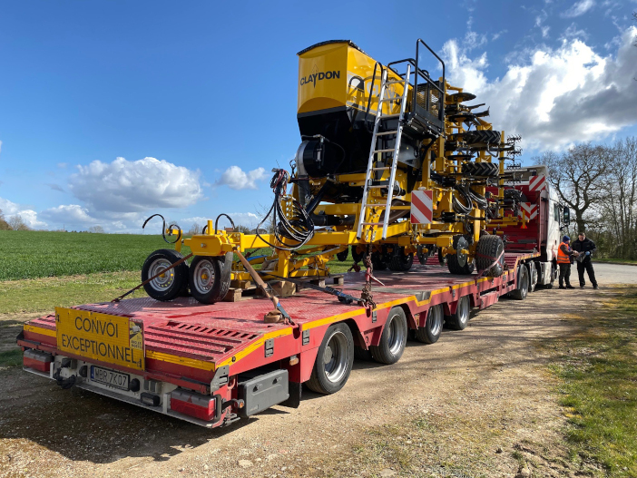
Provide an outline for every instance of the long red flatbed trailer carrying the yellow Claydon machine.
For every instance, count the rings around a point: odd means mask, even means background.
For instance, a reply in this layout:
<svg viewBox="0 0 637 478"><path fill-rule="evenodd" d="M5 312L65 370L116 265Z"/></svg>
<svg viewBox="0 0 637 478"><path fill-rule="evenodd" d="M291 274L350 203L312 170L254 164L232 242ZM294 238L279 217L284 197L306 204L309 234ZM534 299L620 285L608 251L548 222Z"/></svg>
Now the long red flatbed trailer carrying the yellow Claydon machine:
<svg viewBox="0 0 637 478"><path fill-rule="evenodd" d="M26 371L63 387L216 427L272 405L299 406L301 385L316 381L317 370L332 385L324 392L338 391L355 352L372 350L377 361L396 362L407 333L426 329L435 317L440 328L443 314L464 328L471 307L489 307L511 292L525 298L539 259L535 250L507 252L497 278L452 275L437 263L377 272L383 285L372 289L373 310L302 288L281 299L288 323L264 322L271 303L258 298L211 305L131 298L56 308L25 323L17 344ZM364 276L348 273L343 291L358 296ZM400 317L410 330L398 327Z"/></svg>

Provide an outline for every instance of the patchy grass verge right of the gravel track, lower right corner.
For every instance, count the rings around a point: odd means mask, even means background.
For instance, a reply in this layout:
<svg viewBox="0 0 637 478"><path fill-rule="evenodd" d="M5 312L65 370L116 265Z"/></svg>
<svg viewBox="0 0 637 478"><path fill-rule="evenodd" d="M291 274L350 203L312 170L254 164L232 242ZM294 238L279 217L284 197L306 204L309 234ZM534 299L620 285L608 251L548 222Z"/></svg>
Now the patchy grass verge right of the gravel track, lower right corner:
<svg viewBox="0 0 637 478"><path fill-rule="evenodd" d="M581 317L586 329L557 341L552 369L570 427L573 460L602 463L610 476L637 476L637 288Z"/></svg>

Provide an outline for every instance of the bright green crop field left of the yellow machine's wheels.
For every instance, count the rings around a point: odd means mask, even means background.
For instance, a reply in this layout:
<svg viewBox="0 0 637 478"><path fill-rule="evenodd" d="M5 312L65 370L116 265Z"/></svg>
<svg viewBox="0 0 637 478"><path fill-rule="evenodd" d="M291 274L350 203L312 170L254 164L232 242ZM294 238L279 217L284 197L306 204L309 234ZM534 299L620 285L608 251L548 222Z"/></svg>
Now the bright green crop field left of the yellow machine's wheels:
<svg viewBox="0 0 637 478"><path fill-rule="evenodd" d="M155 249L173 246L154 234L0 230L0 280L141 270Z"/></svg>

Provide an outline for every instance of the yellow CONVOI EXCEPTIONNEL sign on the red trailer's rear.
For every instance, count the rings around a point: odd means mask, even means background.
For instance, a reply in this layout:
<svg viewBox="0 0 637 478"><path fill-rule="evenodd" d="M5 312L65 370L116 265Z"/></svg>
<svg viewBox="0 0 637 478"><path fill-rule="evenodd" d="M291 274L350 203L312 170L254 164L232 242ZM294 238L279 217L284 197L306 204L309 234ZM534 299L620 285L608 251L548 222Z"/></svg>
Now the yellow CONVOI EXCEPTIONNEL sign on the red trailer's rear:
<svg viewBox="0 0 637 478"><path fill-rule="evenodd" d="M61 352L144 369L143 330L128 317L55 307L55 323Z"/></svg>

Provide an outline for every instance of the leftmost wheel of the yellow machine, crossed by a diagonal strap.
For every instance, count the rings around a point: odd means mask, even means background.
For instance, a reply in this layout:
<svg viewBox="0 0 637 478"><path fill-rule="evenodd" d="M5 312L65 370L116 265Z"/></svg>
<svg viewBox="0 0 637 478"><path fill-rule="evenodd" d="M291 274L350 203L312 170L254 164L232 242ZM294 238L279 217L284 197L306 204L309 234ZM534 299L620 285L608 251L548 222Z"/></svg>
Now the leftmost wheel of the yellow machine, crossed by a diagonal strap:
<svg viewBox="0 0 637 478"><path fill-rule="evenodd" d="M165 268L169 268L179 259L181 253L172 249L159 249L152 252L142 266L142 282L155 276ZM156 300L172 300L181 296L188 288L188 264L182 262L176 268L171 268L157 278L153 278L143 286L146 294Z"/></svg>

